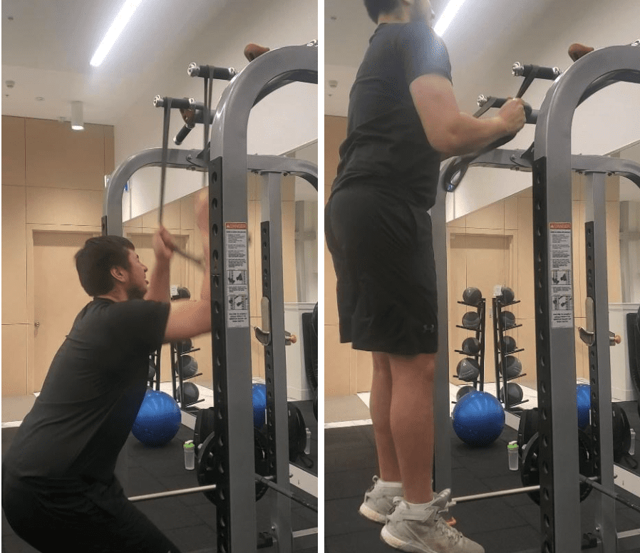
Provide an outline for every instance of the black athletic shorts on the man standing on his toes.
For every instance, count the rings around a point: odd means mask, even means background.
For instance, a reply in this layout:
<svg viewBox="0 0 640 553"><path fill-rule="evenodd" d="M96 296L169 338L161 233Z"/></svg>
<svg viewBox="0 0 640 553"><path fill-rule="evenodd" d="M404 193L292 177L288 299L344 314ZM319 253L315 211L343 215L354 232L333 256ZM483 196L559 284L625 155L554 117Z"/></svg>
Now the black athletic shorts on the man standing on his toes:
<svg viewBox="0 0 640 553"><path fill-rule="evenodd" d="M325 208L338 278L340 341L401 355L438 350L428 211L376 187L341 188Z"/></svg>

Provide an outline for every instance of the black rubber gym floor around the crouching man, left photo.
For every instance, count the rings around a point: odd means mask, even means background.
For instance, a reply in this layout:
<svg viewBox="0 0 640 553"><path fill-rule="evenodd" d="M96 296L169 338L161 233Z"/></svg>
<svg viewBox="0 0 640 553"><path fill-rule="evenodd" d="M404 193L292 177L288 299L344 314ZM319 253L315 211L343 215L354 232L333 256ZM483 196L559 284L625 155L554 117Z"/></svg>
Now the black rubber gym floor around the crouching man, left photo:
<svg viewBox="0 0 640 553"><path fill-rule="evenodd" d="M304 470L318 474L318 431L311 401L294 402L311 430L311 453L314 465ZM2 430L2 452L6 452L16 433L15 428ZM165 490L177 490L197 486L194 470L185 470L182 443L193 438L193 430L181 426L177 435L162 448L147 448L130 435L128 440L129 467L128 482L123 482L126 495L144 495ZM291 487L291 491L316 505L318 500L305 492ZM274 505L273 490L267 491L257 502L257 532L267 532L271 526L269 509ZM210 553L216 551L215 505L205 495L192 494L167 497L138 503L138 508L147 515L163 532L180 547L183 553ZM318 526L315 512L296 502L291 502L291 527L294 531ZM26 544L14 534L2 514L2 551L6 553L31 553L36 549ZM265 549L269 551L269 549ZM294 539L294 552L316 553L317 535Z"/></svg>

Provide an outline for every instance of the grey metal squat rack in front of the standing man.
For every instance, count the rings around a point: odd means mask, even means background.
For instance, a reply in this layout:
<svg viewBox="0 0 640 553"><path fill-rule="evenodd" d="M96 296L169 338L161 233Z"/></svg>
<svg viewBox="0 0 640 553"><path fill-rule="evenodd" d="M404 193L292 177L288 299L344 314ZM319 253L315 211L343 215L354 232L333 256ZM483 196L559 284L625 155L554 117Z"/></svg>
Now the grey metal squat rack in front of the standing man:
<svg viewBox="0 0 640 553"><path fill-rule="evenodd" d="M594 465L599 483L613 490L614 462L611 428L611 378L607 294L605 179L620 175L640 187L640 164L597 155L571 154L571 125L578 105L616 82L640 83L639 45L611 46L580 58L559 76L537 113L535 142L529 150L493 150L469 165L530 170L533 173L535 267L535 325L537 394L540 409L540 528L543 553L579 553L581 524L577 411L567 398L575 396L573 301L569 311L554 309L554 294L573 299L573 281L559 289L552 272L572 270L572 171L587 175L587 297L592 301L596 340L589 347L592 388ZM457 161L443 165L438 200L432 210L438 272L438 316L448 320L445 218L445 173ZM597 262L596 262L597 259ZM449 428L448 335L440 333L435 377L435 425ZM599 371L599 367L603 371ZM450 440L438 433L435 477L438 489L451 487ZM600 495L594 507L597 551L617 548L614 500Z"/></svg>

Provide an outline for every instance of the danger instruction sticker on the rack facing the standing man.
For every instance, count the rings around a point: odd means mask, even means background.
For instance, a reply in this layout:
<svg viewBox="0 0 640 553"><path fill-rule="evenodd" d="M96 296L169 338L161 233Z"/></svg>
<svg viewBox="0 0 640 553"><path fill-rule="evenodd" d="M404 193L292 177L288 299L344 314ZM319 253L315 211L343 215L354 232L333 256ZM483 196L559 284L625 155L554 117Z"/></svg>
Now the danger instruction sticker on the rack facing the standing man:
<svg viewBox="0 0 640 553"><path fill-rule="evenodd" d="M571 223L549 223L549 271L551 326L554 329L573 328Z"/></svg>

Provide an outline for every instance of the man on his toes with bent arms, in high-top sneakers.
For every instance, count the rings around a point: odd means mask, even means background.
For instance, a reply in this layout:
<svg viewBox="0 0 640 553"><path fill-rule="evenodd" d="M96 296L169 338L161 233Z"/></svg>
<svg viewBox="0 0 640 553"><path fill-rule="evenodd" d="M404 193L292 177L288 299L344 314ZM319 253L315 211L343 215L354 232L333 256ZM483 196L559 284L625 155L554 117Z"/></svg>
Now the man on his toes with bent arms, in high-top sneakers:
<svg viewBox="0 0 640 553"><path fill-rule="evenodd" d="M341 342L373 354L371 419L381 477L360 512L411 552L481 553L433 497L433 375L438 346L428 210L440 160L525 124L521 100L490 119L460 113L428 0L364 0L378 24L349 99L347 138L325 210L338 277ZM446 321L445 321L446 323ZM394 507L393 497L402 496Z"/></svg>

